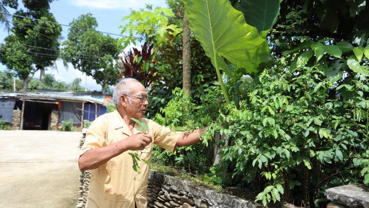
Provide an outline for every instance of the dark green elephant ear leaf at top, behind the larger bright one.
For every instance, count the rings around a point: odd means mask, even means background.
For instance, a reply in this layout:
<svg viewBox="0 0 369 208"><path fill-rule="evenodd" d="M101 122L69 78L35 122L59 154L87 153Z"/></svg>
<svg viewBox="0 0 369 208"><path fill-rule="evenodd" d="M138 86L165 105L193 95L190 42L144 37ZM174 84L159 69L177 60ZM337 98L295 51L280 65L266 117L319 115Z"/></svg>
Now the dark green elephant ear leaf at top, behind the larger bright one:
<svg viewBox="0 0 369 208"><path fill-rule="evenodd" d="M264 38L276 24L279 9L279 0L241 0L237 8L244 13L246 23L256 27Z"/></svg>

